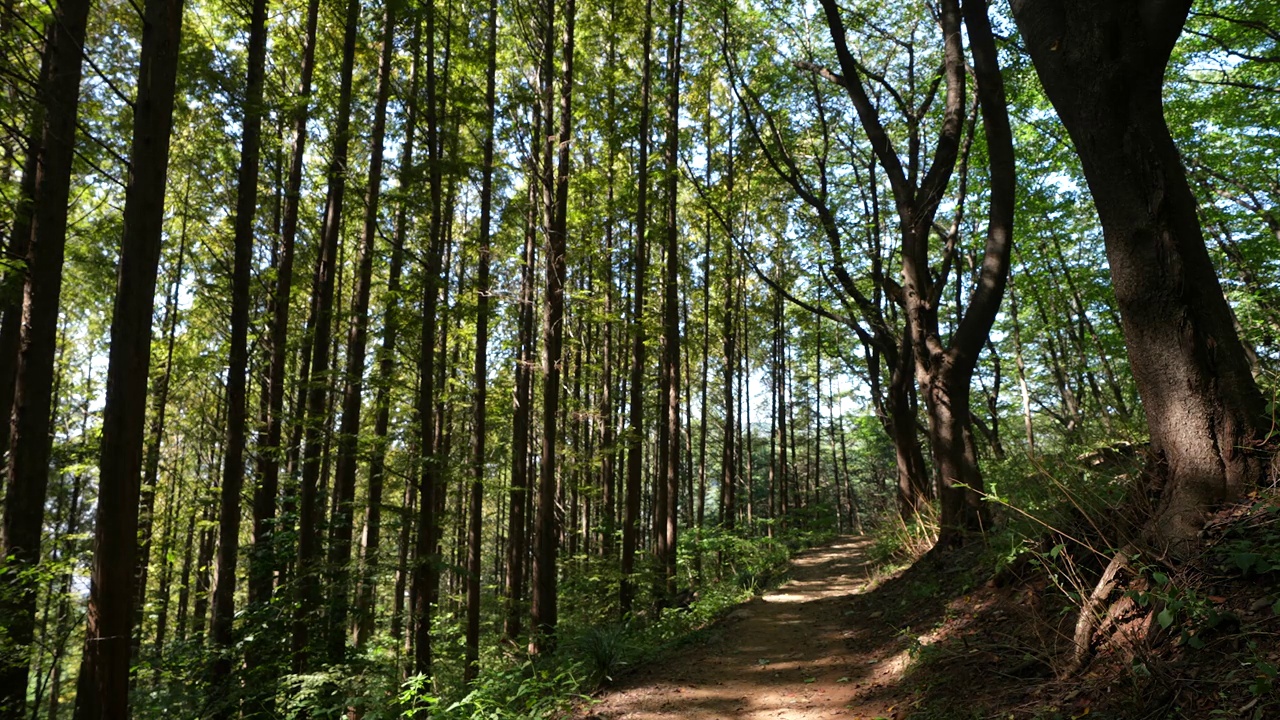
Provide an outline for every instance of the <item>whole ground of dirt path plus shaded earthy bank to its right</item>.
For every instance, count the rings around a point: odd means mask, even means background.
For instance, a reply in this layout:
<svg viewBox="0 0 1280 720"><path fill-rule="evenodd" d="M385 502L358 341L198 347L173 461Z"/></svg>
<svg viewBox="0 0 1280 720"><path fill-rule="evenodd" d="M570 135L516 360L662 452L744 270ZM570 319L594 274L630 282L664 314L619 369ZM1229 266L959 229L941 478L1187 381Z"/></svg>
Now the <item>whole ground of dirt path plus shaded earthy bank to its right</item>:
<svg viewBox="0 0 1280 720"><path fill-rule="evenodd" d="M1176 601L1203 598L1198 623L1184 623L1184 610L1160 630L1138 614L1084 673L1059 679L1076 614L1044 573L993 578L980 547L888 573L870 544L842 537L799 553L788 582L735 609L704 642L617 678L579 716L1280 717L1280 573L1202 582L1203 594ZM1125 628L1146 641L1126 642ZM1206 642L1189 644L1189 634Z"/></svg>

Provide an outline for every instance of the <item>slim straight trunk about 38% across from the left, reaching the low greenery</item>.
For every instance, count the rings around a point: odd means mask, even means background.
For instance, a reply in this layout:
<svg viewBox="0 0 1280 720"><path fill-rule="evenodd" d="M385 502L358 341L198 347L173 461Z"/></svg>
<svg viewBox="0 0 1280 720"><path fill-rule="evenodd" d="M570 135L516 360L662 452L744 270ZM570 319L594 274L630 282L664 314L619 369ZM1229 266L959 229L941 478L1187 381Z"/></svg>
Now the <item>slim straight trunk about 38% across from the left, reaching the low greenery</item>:
<svg viewBox="0 0 1280 720"><path fill-rule="evenodd" d="M471 518L467 533L467 650L463 676L472 682L480 673L480 562L484 519L485 434L489 383L489 224L493 214L493 126L498 72L498 0L489 0L489 50L485 72L484 167L480 181L480 268L476 272L475 400L471 424Z"/></svg>

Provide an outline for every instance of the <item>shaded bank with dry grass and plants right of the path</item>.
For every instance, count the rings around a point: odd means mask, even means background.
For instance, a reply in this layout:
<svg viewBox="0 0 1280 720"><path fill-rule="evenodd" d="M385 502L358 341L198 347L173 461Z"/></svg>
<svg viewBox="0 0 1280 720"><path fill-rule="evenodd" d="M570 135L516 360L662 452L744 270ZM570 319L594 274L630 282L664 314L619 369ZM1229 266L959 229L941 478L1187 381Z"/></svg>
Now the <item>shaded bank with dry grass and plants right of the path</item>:
<svg viewBox="0 0 1280 720"><path fill-rule="evenodd" d="M873 529L881 571L908 568L884 598L942 609L914 618L924 635L904 621L905 717L1280 717L1280 492L1221 509L1171 562L1140 542L1146 461L1114 443L986 464L995 525L945 564L919 562L929 512Z"/></svg>

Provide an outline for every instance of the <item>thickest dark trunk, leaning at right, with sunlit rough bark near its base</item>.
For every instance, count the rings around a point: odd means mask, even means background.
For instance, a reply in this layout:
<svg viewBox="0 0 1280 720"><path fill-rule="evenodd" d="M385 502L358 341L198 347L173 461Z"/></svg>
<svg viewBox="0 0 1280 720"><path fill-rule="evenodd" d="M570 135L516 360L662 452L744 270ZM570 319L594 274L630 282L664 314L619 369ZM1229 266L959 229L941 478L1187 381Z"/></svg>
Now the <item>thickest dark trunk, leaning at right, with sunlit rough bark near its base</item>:
<svg viewBox="0 0 1280 720"><path fill-rule="evenodd" d="M1148 536L1174 551L1267 468L1263 398L1164 117L1165 67L1190 5L1012 3L1102 220L1160 491Z"/></svg>

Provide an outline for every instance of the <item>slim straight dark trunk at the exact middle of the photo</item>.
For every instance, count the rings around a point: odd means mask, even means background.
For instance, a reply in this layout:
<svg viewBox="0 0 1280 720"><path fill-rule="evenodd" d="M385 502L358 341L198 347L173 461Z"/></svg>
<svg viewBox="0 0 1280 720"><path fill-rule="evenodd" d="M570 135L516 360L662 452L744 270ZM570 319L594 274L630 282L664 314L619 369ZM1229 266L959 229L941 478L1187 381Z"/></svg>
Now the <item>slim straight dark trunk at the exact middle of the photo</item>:
<svg viewBox="0 0 1280 720"><path fill-rule="evenodd" d="M635 601L636 583L635 561L636 544L640 539L640 487L644 483L644 300L645 286L649 282L649 92L653 83L653 0L644 4L644 29L640 44L640 137L636 151L636 236L635 236L635 284L631 288L634 309L631 313L631 380L630 416L627 420L627 482L622 511L622 583L618 591L618 609L623 616L631 612Z"/></svg>

